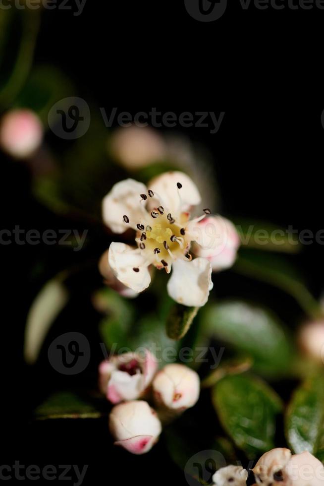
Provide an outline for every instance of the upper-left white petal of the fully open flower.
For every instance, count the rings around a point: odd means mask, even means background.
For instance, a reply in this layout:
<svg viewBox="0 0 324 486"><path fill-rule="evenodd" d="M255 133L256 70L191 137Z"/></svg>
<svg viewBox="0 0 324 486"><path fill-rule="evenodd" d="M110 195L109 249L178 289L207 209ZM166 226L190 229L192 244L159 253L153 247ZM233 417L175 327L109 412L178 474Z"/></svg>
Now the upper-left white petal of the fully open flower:
<svg viewBox="0 0 324 486"><path fill-rule="evenodd" d="M117 182L103 199L103 218L105 224L114 233L124 233L127 228L136 229L137 224L143 220L143 211L140 205L140 194L147 193L142 182L126 179ZM125 223L123 216L129 218Z"/></svg>

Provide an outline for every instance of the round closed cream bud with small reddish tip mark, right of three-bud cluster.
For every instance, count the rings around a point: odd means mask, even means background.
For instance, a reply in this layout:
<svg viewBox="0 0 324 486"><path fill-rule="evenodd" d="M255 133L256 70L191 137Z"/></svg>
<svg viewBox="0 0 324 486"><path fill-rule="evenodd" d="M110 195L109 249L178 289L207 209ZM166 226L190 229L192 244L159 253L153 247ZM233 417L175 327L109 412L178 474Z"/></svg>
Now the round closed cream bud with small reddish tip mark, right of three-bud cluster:
<svg viewBox="0 0 324 486"><path fill-rule="evenodd" d="M167 364L153 380L153 393L157 405L182 411L198 401L200 379L184 364Z"/></svg>

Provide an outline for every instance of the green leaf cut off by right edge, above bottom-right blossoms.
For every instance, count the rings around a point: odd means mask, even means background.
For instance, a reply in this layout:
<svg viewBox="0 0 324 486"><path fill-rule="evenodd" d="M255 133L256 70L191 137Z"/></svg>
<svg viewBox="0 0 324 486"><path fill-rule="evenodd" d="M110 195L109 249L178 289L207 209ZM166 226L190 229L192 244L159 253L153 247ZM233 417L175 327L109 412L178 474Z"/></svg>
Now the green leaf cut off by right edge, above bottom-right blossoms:
<svg viewBox="0 0 324 486"><path fill-rule="evenodd" d="M285 418L286 437L296 454L307 450L324 460L324 375L309 376L295 391Z"/></svg>

